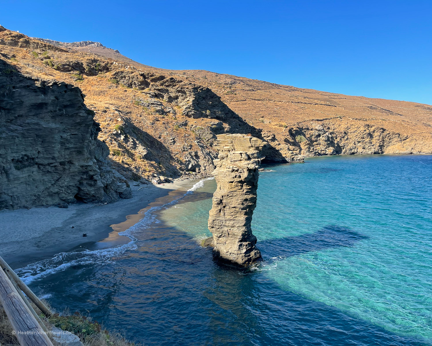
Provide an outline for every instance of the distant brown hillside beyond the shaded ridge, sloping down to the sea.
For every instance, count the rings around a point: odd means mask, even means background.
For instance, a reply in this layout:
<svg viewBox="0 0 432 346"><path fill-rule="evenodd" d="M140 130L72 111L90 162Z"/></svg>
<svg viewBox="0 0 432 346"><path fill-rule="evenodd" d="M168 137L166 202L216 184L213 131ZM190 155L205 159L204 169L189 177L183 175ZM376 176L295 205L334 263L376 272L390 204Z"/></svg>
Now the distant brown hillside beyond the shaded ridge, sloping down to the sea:
<svg viewBox="0 0 432 346"><path fill-rule="evenodd" d="M334 154L432 153L432 107L187 70L262 131L288 161ZM273 160L266 154L266 160Z"/></svg>

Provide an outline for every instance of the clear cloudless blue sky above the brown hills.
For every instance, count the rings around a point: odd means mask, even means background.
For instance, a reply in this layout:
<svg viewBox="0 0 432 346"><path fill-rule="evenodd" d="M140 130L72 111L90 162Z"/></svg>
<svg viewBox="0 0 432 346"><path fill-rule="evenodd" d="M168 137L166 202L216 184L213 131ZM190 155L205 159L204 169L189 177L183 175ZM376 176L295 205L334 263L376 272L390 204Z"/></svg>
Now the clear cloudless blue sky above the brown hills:
<svg viewBox="0 0 432 346"><path fill-rule="evenodd" d="M431 0L2 0L0 24L155 67L432 104Z"/></svg>

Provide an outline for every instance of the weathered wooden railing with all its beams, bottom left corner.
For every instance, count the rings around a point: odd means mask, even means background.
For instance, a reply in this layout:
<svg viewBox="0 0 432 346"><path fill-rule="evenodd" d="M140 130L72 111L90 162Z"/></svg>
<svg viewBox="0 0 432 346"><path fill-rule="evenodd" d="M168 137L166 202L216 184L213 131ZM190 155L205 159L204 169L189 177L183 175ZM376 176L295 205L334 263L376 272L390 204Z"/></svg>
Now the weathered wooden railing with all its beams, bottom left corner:
<svg viewBox="0 0 432 346"><path fill-rule="evenodd" d="M53 346L48 337L47 328L23 292L45 316L50 316L52 312L1 257L0 266L0 303L3 305L19 344L21 346Z"/></svg>

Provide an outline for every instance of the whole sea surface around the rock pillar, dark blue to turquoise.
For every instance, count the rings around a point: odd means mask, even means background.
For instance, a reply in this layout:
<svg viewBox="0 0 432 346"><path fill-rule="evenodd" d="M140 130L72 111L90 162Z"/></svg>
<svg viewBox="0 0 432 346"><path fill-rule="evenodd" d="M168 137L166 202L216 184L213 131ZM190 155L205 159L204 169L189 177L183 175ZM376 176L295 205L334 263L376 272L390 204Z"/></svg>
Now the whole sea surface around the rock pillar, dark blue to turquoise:
<svg viewBox="0 0 432 346"><path fill-rule="evenodd" d="M115 249L21 270L54 308L146 345L431 345L432 156L337 156L268 167L252 229L264 262L200 247L214 180ZM183 195L178 192L174 199Z"/></svg>

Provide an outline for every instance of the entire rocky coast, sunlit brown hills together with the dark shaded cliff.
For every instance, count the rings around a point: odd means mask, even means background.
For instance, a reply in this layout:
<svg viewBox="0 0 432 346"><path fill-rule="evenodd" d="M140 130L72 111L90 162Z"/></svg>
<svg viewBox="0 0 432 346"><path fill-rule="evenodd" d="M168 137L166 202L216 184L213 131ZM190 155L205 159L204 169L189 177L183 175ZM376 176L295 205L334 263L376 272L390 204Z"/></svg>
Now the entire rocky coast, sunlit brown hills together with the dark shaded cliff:
<svg viewBox="0 0 432 346"><path fill-rule="evenodd" d="M214 143L221 134L265 141L261 155L266 162L334 154L432 153L429 105L209 71L164 70L98 42L31 38L3 27L0 59L6 105L2 114L10 114L3 116L1 131L13 136L8 143L17 143L5 147L2 159L3 208L77 198L112 202L127 197L127 186L122 185L126 179L157 184L163 183L161 176L210 176L218 155ZM23 101L27 95L30 103ZM24 131L30 131L29 138L23 137ZM48 147L56 149L50 152ZM30 188L25 196L24 186L36 186L43 170L49 182Z"/></svg>

